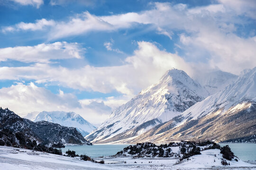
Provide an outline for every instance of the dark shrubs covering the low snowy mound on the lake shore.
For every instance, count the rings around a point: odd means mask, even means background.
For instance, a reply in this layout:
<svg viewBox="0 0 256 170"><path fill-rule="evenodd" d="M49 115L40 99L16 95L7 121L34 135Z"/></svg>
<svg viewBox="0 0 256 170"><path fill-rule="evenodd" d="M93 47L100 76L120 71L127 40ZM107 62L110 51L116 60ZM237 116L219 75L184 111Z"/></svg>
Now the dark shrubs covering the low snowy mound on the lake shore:
<svg viewBox="0 0 256 170"><path fill-rule="evenodd" d="M179 147L179 151L173 152L172 147ZM211 141L182 141L179 143L171 142L169 144L160 145L156 145L150 142L138 143L135 145L129 145L128 147L125 147L122 151L119 151L116 154L116 156L132 155L134 157L174 157L183 160L193 155L201 154L200 151L209 149L220 149L221 153L223 154L223 158L227 160L232 160L234 158L234 153L231 152L228 145L220 147L219 144L216 144Z"/></svg>

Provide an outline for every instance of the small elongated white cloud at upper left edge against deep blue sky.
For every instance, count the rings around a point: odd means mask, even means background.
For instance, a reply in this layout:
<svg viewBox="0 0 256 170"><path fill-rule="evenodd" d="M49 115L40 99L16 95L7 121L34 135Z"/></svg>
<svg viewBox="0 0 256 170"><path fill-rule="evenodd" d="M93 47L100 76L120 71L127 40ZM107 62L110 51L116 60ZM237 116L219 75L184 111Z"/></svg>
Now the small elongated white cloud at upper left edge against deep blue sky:
<svg viewBox="0 0 256 170"><path fill-rule="evenodd" d="M16 24L15 26L7 26L2 28L2 32L13 32L13 31L20 31L20 30L30 30L30 31L36 31L36 30L42 30L46 26L55 26L54 20L46 20L45 18L36 20L36 23L24 23L20 22Z"/></svg>

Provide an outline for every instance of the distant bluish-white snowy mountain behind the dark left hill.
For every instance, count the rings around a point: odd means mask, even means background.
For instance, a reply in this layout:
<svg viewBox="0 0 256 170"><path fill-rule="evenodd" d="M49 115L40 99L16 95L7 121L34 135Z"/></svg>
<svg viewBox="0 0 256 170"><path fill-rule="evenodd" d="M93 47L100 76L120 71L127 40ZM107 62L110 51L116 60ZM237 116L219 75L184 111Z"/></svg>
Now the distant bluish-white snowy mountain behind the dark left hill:
<svg viewBox="0 0 256 170"><path fill-rule="evenodd" d="M74 112L42 111L33 121L37 122L42 120L57 123L66 127L75 127L77 131L82 134L82 136L88 135L96 128L87 120L83 119L79 114Z"/></svg>

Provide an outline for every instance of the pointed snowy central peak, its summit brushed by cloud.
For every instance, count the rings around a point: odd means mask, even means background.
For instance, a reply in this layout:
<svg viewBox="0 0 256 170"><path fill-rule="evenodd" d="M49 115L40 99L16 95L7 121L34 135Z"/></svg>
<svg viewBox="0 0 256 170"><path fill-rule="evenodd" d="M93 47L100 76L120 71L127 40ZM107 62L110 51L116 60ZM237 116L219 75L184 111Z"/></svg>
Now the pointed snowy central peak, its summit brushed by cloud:
<svg viewBox="0 0 256 170"><path fill-rule="evenodd" d="M114 110L110 118L86 136L86 139L94 143L106 143L139 135L174 118L208 95L184 71L171 69L157 84L142 90L135 98ZM142 124L132 135L123 134Z"/></svg>

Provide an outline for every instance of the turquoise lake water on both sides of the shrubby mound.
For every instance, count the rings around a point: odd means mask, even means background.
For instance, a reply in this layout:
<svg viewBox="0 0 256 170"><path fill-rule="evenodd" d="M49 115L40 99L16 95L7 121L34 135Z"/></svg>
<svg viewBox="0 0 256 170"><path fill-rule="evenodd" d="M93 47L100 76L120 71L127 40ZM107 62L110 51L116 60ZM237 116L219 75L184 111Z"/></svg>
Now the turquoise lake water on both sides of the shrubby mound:
<svg viewBox="0 0 256 170"><path fill-rule="evenodd" d="M224 146L226 144L220 144ZM256 144L228 144L231 151L243 161L256 161ZM65 153L68 149L75 151L76 154L86 154L91 158L97 158L101 156L114 155L117 152L123 150L128 144L95 144L92 146L66 146L62 148L62 152Z"/></svg>

